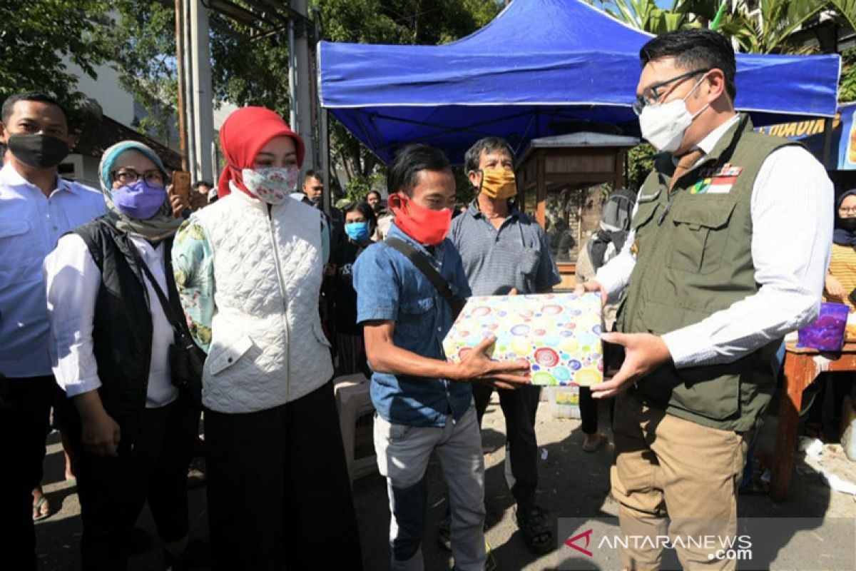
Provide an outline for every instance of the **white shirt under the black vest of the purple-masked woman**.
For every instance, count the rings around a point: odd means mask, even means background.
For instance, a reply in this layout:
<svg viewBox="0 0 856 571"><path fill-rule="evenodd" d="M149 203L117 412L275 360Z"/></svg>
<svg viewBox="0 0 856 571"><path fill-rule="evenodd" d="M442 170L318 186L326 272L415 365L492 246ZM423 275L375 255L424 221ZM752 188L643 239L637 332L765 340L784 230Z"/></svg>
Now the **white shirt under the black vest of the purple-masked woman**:
<svg viewBox="0 0 856 571"><path fill-rule="evenodd" d="M168 292L164 274L163 244L152 248L146 240L131 236L140 257L149 266L164 294ZM146 408L163 407L178 397L169 378L169 345L173 330L158 301L152 283L146 279L149 311L152 313L152 359ZM101 272L79 235L62 236L45 259L47 307L51 321L51 358L56 383L66 395L77 396L101 386L98 365L92 352L95 303L101 286Z"/></svg>

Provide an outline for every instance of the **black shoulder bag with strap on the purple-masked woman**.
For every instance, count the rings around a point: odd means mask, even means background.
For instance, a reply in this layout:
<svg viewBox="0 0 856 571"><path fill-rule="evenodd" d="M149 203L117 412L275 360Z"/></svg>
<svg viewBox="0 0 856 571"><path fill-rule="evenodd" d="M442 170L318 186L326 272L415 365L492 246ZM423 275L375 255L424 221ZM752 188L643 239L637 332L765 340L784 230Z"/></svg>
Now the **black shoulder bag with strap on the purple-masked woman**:
<svg viewBox="0 0 856 571"><path fill-rule="evenodd" d="M140 259L140 255L133 245L131 248L137 265L146 273L146 277L152 283L152 288L158 294L158 300L163 307L163 314L166 315L169 324L172 325L172 330L175 332L175 342L169 346L169 372L172 384L178 387L178 390L187 397L193 407L201 408L202 368L205 366L205 351L193 341L190 331L187 330L187 322L175 315L175 311L173 311L169 300L158 285L158 280L149 270L149 266ZM169 277L167 281L169 281Z"/></svg>

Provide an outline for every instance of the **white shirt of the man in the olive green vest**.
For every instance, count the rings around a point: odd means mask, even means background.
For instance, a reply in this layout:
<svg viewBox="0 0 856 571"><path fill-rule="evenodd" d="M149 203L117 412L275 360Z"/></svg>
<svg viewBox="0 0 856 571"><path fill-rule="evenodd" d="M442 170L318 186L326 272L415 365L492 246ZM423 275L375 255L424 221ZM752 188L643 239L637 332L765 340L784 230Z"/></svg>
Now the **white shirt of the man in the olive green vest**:
<svg viewBox="0 0 856 571"><path fill-rule="evenodd" d="M712 152L738 121L734 116L698 147ZM817 317L832 245L833 198L832 181L810 152L786 146L770 153L750 205L758 293L663 335L676 367L730 363ZM627 286L636 265L630 251L634 241L631 231L621 253L597 271L595 279L610 301Z"/></svg>

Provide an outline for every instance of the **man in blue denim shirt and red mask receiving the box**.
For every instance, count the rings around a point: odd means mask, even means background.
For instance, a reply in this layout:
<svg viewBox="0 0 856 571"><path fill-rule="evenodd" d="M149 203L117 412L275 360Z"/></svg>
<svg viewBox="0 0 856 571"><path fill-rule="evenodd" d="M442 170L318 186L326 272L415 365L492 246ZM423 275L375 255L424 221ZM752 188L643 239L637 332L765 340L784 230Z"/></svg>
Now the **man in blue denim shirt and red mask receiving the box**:
<svg viewBox="0 0 856 571"><path fill-rule="evenodd" d="M387 478L391 568L422 569L427 482L436 451L449 485L455 568L484 569L484 458L471 380L506 388L528 383L526 363L496 363L487 338L460 363L443 353L443 337L470 294L461 257L445 240L455 204L455 177L442 152L407 146L389 166L389 238L425 256L460 303L449 307L425 275L388 244L369 247L354 264L357 320L372 366L377 467ZM490 379L490 381L488 381Z"/></svg>

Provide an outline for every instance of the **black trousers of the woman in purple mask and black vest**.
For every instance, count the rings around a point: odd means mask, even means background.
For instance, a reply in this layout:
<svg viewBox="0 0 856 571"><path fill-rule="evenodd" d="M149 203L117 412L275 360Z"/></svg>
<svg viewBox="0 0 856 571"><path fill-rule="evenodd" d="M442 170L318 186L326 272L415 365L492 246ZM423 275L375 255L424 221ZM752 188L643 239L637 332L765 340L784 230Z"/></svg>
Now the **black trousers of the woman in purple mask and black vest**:
<svg viewBox="0 0 856 571"><path fill-rule="evenodd" d="M80 425L71 426L85 571L128 567L134 524L146 502L162 541L187 536L187 469L198 422L199 411L181 399L146 408L134 444L120 441L118 457L109 458L86 452Z"/></svg>

